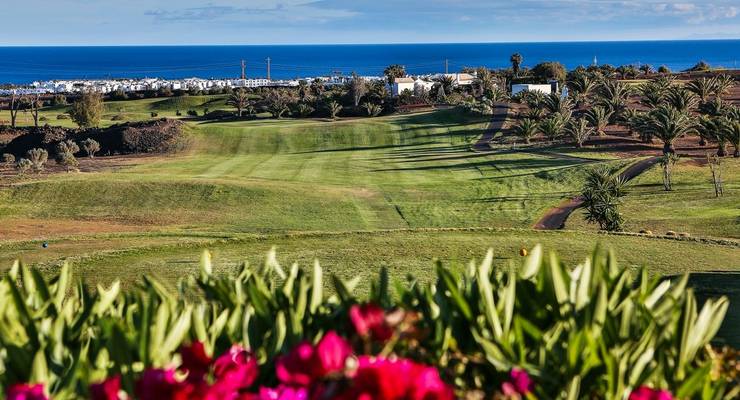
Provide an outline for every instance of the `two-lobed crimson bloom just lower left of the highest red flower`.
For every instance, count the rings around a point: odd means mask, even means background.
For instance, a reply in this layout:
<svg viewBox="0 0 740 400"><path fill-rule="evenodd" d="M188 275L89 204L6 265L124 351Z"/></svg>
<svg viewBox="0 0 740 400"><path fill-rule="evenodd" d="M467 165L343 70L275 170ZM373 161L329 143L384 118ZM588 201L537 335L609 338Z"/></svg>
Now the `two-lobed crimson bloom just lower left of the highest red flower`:
<svg viewBox="0 0 740 400"><path fill-rule="evenodd" d="M336 332L329 331L315 347L303 342L279 357L275 372L284 384L309 386L317 379L343 371L351 354L349 343Z"/></svg>

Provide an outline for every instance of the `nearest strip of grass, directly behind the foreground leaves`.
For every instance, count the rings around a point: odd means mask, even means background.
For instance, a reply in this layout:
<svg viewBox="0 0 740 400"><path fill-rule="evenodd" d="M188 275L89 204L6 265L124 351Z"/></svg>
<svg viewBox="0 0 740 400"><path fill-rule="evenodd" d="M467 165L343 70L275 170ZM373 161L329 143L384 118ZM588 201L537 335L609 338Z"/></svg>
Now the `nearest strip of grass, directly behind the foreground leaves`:
<svg viewBox="0 0 740 400"><path fill-rule="evenodd" d="M688 271L737 271L740 265L728 263L740 257L740 248L697 242L607 236L583 232L558 231L376 231L317 233L298 235L240 236L206 239L201 236L169 235L101 236L52 242L42 249L38 242L7 245L0 265L7 267L15 257L54 270L68 260L78 276L91 283L109 284L121 279L126 286L138 282L143 274L159 277L168 284L197 273L202 249L214 255L217 272L233 272L247 262L259 265L275 246L284 266L294 262L303 267L318 259L327 273L344 278L367 277L381 266L393 277L414 274L420 279L433 276L433 261L464 268L470 260L480 260L493 248L496 265L506 268L509 260L518 262L519 249L541 243L556 250L565 262L576 265L600 244L616 252L622 265L646 265L652 273L678 274ZM108 249L115 248L115 251ZM658 256L656 256L658 255Z"/></svg>

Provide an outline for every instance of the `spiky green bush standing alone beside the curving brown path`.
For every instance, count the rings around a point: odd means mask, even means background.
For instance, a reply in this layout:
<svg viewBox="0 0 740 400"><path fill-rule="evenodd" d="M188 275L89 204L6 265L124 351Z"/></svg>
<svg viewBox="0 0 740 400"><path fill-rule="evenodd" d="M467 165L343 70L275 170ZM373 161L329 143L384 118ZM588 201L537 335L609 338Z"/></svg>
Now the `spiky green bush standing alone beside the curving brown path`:
<svg viewBox="0 0 740 400"><path fill-rule="evenodd" d="M586 184L581 191L586 221L598 223L602 230L621 231L624 219L619 213L619 205L626 194L624 187L624 179L607 168L588 171Z"/></svg>

